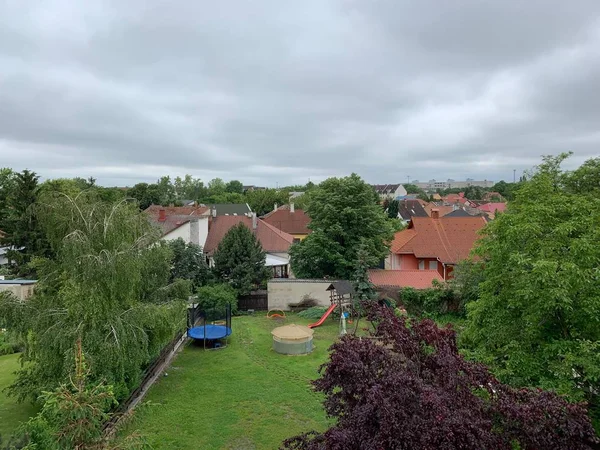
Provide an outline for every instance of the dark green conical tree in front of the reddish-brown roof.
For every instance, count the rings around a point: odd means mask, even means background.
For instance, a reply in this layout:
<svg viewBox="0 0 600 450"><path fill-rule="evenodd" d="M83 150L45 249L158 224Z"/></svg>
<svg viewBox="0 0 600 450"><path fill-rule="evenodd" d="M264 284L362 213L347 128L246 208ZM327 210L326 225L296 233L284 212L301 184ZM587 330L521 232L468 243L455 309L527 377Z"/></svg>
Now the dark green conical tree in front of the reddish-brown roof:
<svg viewBox="0 0 600 450"><path fill-rule="evenodd" d="M227 232L213 258L215 274L230 283L240 295L249 294L264 284L270 275L260 242L243 223Z"/></svg>

